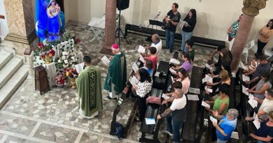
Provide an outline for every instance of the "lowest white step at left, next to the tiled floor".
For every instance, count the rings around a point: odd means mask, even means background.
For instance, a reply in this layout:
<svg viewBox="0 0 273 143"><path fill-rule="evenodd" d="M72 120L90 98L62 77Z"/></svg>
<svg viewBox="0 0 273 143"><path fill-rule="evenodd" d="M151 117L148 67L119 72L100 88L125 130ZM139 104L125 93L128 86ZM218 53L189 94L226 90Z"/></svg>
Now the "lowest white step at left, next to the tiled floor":
<svg viewBox="0 0 273 143"><path fill-rule="evenodd" d="M13 95L18 89L20 84L24 82L27 75L29 74L26 66L21 66L19 70L8 79L8 82L0 89L0 109L5 105L6 101Z"/></svg>

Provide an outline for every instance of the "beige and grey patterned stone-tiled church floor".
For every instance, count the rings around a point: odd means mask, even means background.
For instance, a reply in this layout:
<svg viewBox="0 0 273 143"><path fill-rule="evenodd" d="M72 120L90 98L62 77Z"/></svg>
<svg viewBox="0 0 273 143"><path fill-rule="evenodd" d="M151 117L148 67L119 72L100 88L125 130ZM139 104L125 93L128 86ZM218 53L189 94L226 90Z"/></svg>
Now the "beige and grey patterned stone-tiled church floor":
<svg viewBox="0 0 273 143"><path fill-rule="evenodd" d="M94 65L102 68L102 85L106 77L106 67L100 63L104 56L99 53L100 41L92 39L92 31L87 24L69 24L67 29L73 35L80 36L80 50L85 55L92 57ZM130 44L121 43L122 50L127 58L128 74L132 72L131 63L138 58L137 50L144 36L129 34ZM165 41L164 41L165 42ZM148 43L146 43L148 45ZM178 50L180 45L176 43ZM202 66L210 51L204 47L195 47L195 66ZM162 50L160 60L169 61L172 54ZM28 77L20 86L8 103L0 110L0 143L1 142L137 142L140 137L140 123L134 123L130 135L126 139L118 140L109 135L115 100L106 98L103 91L104 110L94 119L83 119L78 114L77 91L69 87L55 88L42 96L34 90L34 79ZM133 102L126 99L123 108L117 116L119 123L127 123ZM164 128L164 127L162 127ZM165 134L160 132L160 137Z"/></svg>

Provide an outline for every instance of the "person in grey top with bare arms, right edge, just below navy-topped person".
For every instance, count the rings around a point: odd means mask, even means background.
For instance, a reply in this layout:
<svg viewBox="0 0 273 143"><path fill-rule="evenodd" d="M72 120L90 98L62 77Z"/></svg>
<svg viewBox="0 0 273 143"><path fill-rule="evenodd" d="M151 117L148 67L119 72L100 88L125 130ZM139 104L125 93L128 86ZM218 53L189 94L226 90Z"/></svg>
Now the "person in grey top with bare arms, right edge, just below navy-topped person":
<svg viewBox="0 0 273 143"><path fill-rule="evenodd" d="M253 86L251 89L247 89L246 91L248 91L248 93L253 93L255 98L264 99L265 91L271 87L272 85L269 81L269 73L262 73L258 84Z"/></svg>

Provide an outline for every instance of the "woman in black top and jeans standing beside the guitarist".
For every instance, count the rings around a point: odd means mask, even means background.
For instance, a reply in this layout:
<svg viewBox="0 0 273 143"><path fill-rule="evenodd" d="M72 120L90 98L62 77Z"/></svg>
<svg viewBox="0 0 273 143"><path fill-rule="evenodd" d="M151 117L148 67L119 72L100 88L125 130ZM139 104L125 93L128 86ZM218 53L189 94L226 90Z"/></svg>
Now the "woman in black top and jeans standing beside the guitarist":
<svg viewBox="0 0 273 143"><path fill-rule="evenodd" d="M184 18L186 23L182 27L182 43L181 43L181 51L188 52L186 45L186 40L189 40L193 36L193 29L195 29L196 24L196 11L195 9L191 9L188 12L188 15Z"/></svg>

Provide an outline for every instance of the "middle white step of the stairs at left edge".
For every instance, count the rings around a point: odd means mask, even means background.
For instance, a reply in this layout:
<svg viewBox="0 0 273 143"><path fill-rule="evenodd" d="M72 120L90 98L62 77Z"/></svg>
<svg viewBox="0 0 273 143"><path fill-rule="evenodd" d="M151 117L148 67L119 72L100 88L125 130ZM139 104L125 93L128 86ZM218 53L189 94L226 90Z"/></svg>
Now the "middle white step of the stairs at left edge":
<svg viewBox="0 0 273 143"><path fill-rule="evenodd" d="M6 63L6 65L0 70L0 89L6 84L6 82L10 79L11 76L22 66L22 59L13 57Z"/></svg>

